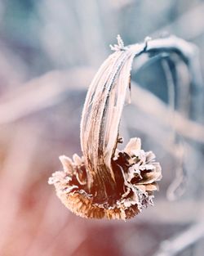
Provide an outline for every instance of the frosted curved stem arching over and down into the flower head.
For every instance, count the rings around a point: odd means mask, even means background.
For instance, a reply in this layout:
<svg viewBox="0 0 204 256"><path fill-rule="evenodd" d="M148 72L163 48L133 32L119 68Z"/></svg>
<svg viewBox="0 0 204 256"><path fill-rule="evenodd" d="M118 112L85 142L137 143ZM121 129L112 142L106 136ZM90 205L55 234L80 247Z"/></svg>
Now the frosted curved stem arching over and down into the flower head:
<svg viewBox="0 0 204 256"><path fill-rule="evenodd" d="M118 45L112 48L116 52L101 65L87 92L81 121L81 145L87 168L88 186L90 190L95 186L95 193L100 195L100 199L103 196L107 198L116 186L111 160L118 142L118 128L133 59L144 53L154 56L176 53L188 65L191 73L196 72L197 63L197 48L175 36L146 40L144 43L128 47L124 47L122 40L118 38ZM169 83L172 82L170 75L167 80ZM200 80L197 81L193 76L192 82L198 90L202 90ZM171 94L171 105L174 107L174 92ZM200 97L199 101L201 100ZM100 185L103 186L104 195L98 191Z"/></svg>

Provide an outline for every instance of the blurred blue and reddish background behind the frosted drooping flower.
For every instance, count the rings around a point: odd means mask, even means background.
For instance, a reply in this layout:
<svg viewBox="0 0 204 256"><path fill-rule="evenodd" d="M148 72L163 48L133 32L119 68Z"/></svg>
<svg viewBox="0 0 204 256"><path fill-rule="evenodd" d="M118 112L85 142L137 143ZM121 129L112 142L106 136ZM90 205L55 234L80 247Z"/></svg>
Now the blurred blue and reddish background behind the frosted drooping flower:
<svg viewBox="0 0 204 256"><path fill-rule="evenodd" d="M203 14L202 0L0 1L1 256L203 255ZM59 155L81 155L91 79L117 34L166 32L199 48L199 90L183 61L155 58L132 70L121 127L162 165L155 206L128 222L79 218L47 179Z"/></svg>

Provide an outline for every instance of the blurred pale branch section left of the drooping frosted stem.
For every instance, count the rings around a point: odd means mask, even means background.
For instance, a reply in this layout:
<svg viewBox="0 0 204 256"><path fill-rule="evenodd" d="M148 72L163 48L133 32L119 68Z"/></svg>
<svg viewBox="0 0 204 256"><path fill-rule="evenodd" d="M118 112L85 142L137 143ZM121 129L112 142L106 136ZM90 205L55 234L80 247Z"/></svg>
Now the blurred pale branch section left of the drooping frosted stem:
<svg viewBox="0 0 204 256"><path fill-rule="evenodd" d="M25 83L0 101L0 124L15 122L39 110L55 106L67 97L71 89L82 89L91 81L93 71L79 69L53 71Z"/></svg>

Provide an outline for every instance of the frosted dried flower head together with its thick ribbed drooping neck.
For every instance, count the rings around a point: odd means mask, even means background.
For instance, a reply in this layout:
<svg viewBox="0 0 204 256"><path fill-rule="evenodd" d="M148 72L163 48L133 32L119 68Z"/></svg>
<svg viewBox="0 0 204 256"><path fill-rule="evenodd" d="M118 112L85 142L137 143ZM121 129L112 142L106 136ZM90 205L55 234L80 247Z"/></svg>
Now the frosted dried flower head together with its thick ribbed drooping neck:
<svg viewBox="0 0 204 256"><path fill-rule="evenodd" d="M146 47L146 43L144 43ZM118 150L119 122L129 84L131 63L138 47L118 46L95 75L82 112L83 156L60 156L64 171L49 179L56 194L73 213L85 218L128 219L153 205L153 191L162 178L152 151L131 138Z"/></svg>

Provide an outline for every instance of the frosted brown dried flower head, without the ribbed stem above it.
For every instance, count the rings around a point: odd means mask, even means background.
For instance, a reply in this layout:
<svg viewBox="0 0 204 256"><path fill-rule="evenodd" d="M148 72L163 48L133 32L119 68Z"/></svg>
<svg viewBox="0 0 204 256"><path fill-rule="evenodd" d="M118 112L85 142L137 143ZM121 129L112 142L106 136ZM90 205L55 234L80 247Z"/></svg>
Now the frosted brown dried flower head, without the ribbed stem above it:
<svg viewBox="0 0 204 256"><path fill-rule="evenodd" d="M112 161L116 194L111 200L95 202L87 186L83 158L73 160L60 156L64 171L55 172L49 179L56 194L73 213L86 218L131 218L148 204L153 204L153 191L162 178L160 164L152 151L141 150L140 138L132 138L122 151L117 150Z"/></svg>

